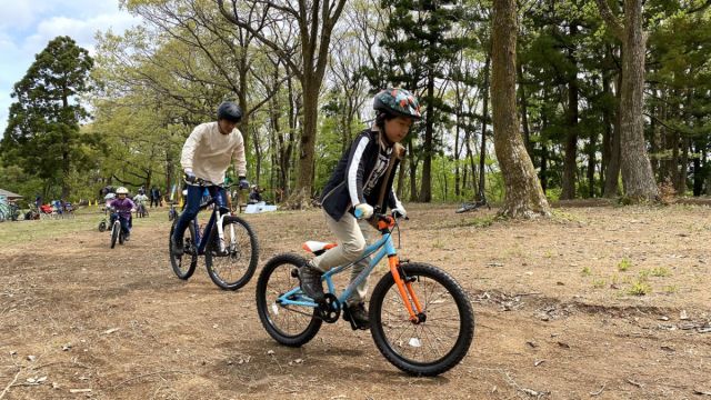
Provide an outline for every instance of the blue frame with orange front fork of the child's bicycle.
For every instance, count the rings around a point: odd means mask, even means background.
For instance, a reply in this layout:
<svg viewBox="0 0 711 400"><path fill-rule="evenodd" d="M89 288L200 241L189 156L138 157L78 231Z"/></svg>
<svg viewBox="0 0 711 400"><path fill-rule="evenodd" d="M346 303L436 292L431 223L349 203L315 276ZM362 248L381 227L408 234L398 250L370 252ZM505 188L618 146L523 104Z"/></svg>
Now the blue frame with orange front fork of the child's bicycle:
<svg viewBox="0 0 711 400"><path fill-rule="evenodd" d="M352 282L350 282L350 284L339 296L337 296L338 304L344 304L346 301L351 297L356 288L363 280L368 278L368 276L372 272L375 266L378 266L378 263L387 256L388 263L390 266L390 273L392 273L395 284L398 286L398 291L400 293L400 297L402 298L402 301L405 308L408 309L410 320L418 321L420 318L419 316L422 313L422 306L420 304L420 301L414 294L414 290L412 289L412 286L410 284L410 282L407 279L403 280L402 277L400 277L400 271L398 269L400 262L398 260L398 251L392 242L392 230L384 231L382 234L382 238L380 238L374 243L368 246L365 250L363 250L363 254L357 261L332 268L328 272L324 272L321 279L326 281L328 287L328 292L331 294L334 294L337 292L336 286L333 284L333 279L332 279L333 276L344 271L348 268L353 267L354 264L357 264L368 256L372 256L372 254L374 256L370 260L368 267L364 268L358 274L358 277ZM292 300L292 298L294 297L296 299ZM306 297L301 291L301 288L299 287L291 289L290 291L280 296L279 299L277 299L277 302L282 306L303 306L303 307L313 307L313 308L319 307L317 302Z"/></svg>

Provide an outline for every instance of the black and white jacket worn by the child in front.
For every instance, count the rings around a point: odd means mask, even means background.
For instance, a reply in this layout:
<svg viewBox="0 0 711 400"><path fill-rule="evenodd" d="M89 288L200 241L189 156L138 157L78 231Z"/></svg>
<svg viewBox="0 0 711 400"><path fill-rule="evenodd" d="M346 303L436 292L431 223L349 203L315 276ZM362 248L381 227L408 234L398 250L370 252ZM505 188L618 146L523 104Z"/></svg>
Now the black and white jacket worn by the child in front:
<svg viewBox="0 0 711 400"><path fill-rule="evenodd" d="M368 203L384 212L387 207L400 206L392 182L400 162L393 158L390 177L385 182L385 171L391 159L392 146L380 139L380 132L365 129L358 134L350 150L344 152L321 194L321 204L331 218L339 221L353 206ZM387 184L388 196L382 204L377 204L380 190ZM387 207L385 207L387 206Z"/></svg>

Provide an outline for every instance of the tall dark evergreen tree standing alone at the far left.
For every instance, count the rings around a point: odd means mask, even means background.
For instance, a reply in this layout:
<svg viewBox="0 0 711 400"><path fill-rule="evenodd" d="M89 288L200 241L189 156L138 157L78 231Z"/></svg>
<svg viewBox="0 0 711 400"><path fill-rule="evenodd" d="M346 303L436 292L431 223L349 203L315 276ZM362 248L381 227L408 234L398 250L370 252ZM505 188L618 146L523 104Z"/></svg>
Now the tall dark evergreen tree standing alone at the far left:
<svg viewBox="0 0 711 400"><path fill-rule="evenodd" d="M69 37L57 37L36 56L12 97L2 141L6 162L42 179L54 180L69 197L72 168L84 160L79 121L88 117L79 97L89 90L93 60ZM9 156L9 157L8 157Z"/></svg>

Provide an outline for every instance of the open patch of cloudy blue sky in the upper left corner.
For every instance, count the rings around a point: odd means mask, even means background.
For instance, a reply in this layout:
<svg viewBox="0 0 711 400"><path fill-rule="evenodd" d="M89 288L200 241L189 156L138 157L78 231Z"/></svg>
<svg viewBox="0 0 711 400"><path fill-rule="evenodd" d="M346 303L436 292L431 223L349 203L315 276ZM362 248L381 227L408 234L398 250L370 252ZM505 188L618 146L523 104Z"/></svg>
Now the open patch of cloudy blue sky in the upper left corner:
<svg viewBox="0 0 711 400"><path fill-rule="evenodd" d="M97 31L119 33L138 23L119 10L119 0L0 0L0 139L14 83L50 40L69 36L93 56Z"/></svg>

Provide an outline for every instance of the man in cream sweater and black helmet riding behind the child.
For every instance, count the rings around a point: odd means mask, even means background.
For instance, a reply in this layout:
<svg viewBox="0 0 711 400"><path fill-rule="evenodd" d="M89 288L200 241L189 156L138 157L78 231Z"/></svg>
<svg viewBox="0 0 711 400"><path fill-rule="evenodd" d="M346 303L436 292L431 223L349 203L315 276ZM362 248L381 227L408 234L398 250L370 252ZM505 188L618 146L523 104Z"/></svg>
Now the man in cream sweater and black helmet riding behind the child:
<svg viewBox="0 0 711 400"><path fill-rule="evenodd" d="M183 234L190 221L200 211L204 188L208 189L210 196L216 198L218 207L226 206L224 189L216 184L206 187L203 182L223 182L224 173L233 159L240 189L249 188L246 178L244 140L242 133L236 128L241 119L242 110L240 107L231 101L226 101L218 107L218 120L196 127L182 147L180 164L184 171L188 194L186 210L180 214L173 236L170 238L172 252L176 257L183 253Z"/></svg>

